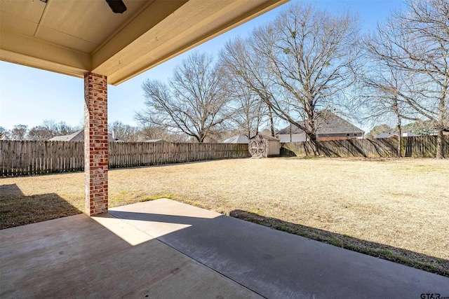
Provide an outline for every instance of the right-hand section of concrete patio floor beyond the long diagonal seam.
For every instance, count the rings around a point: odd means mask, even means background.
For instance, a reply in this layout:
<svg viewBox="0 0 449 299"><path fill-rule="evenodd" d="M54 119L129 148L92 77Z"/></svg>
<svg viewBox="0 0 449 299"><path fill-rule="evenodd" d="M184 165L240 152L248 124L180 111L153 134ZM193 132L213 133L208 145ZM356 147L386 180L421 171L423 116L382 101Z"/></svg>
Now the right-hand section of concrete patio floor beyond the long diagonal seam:
<svg viewBox="0 0 449 299"><path fill-rule="evenodd" d="M265 298L419 298L427 289L449 292L449 284L441 286L447 277L195 209L155 200L109 214Z"/></svg>

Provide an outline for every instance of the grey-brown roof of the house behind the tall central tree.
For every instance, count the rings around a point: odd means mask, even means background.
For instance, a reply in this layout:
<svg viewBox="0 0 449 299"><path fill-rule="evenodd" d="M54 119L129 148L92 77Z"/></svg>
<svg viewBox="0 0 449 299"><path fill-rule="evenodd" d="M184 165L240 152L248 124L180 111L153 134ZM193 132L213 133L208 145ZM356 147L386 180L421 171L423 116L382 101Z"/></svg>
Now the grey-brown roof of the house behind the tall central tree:
<svg viewBox="0 0 449 299"><path fill-rule="evenodd" d="M316 126L318 130L316 130L316 134L338 134L338 133L364 133L363 130L359 129L355 125L352 125L347 120L340 118L340 116L336 116L334 113L330 111L319 111L317 113L316 118ZM304 125L304 122L301 121L300 125ZM277 135L290 135L290 125L288 127L283 128ZM304 131L295 125L291 125L291 134L304 134Z"/></svg>

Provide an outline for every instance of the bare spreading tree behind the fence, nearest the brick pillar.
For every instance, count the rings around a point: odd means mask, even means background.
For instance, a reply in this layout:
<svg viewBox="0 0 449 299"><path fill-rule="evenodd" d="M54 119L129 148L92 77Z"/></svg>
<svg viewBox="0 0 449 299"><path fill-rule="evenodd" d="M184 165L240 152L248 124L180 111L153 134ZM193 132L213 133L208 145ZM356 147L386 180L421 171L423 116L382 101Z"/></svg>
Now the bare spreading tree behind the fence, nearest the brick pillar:
<svg viewBox="0 0 449 299"><path fill-rule="evenodd" d="M149 80L142 84L147 109L135 118L203 142L229 119L222 76L212 56L194 52L175 68L168 85Z"/></svg>

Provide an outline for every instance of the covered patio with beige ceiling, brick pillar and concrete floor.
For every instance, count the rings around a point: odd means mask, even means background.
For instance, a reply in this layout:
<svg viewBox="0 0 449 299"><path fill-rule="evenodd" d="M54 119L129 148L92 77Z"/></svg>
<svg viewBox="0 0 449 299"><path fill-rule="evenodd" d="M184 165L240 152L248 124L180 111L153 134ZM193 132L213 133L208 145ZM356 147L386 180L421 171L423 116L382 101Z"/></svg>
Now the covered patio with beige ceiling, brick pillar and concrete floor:
<svg viewBox="0 0 449 299"><path fill-rule="evenodd" d="M449 295L446 277L172 200L108 209L107 85L285 2L0 1L1 60L84 80L86 175L85 214L0 231L1 298Z"/></svg>

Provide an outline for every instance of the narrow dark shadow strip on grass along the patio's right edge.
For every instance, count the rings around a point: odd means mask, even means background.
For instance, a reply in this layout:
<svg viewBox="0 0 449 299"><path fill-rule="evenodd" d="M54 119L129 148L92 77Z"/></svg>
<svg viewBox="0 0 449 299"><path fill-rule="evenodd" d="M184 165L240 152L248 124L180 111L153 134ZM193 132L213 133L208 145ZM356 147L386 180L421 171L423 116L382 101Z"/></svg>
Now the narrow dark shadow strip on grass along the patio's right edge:
<svg viewBox="0 0 449 299"><path fill-rule="evenodd" d="M415 251L409 251L387 244L370 242L356 237L349 237L347 235L321 230L319 228L311 228L309 226L290 223L278 218L262 216L239 209L231 211L230 216L264 225L269 228L274 228L275 230L307 237L308 239L314 239L340 248L368 254L369 256L375 256L384 260L390 260L394 263L408 265L420 270L449 277L449 260L443 258L435 258L434 256L427 256L424 253L417 253Z"/></svg>

